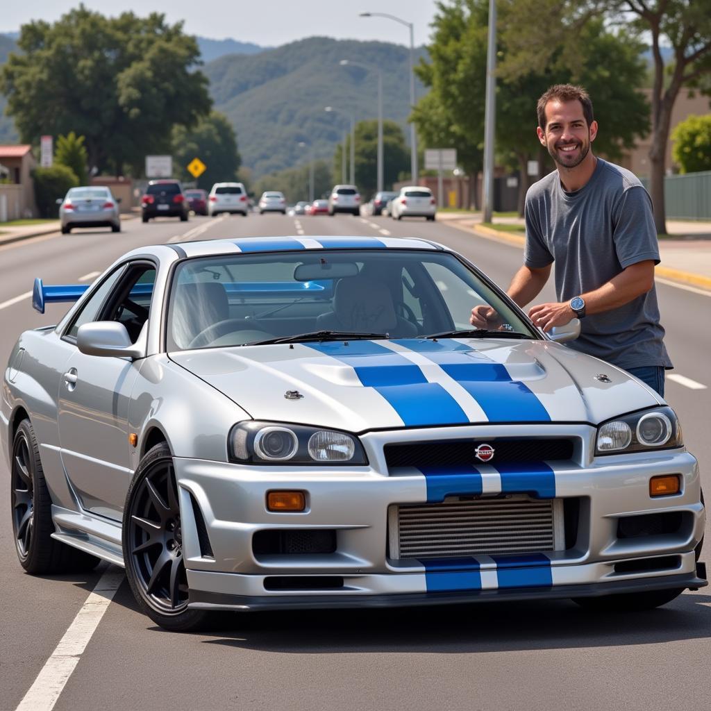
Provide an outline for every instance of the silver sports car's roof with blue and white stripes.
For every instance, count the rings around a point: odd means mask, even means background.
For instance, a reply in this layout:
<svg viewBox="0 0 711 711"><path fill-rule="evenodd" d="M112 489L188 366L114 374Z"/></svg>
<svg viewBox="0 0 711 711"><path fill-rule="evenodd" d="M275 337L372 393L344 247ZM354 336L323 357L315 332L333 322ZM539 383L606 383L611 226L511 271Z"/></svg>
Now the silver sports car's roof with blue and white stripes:
<svg viewBox="0 0 711 711"><path fill-rule="evenodd" d="M166 245L160 246L161 249ZM204 240L200 242L177 242L167 245L180 257L211 257L216 255L239 254L240 252L260 254L265 252L309 251L309 250L444 250L437 242L421 240L417 237L363 237L353 235L304 237L241 237L233 240ZM146 247L135 252L145 254Z"/></svg>

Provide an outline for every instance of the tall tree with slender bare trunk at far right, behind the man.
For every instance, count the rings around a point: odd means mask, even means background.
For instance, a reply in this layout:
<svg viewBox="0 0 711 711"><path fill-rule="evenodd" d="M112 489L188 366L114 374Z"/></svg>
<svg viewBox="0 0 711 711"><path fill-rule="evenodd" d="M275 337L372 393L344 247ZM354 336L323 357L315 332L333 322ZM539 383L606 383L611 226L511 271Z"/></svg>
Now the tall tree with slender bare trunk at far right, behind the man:
<svg viewBox="0 0 711 711"><path fill-rule="evenodd" d="M657 232L666 232L664 173L671 114L682 87L710 90L711 6L708 0L500 0L508 22L501 26L508 55L502 73L520 77L550 65L556 51L574 68L585 52L581 37L596 17L651 38L654 67L651 91L650 192ZM542 21L545 18L545 21ZM665 65L663 46L672 50ZM616 59L616 58L614 58ZM605 64L611 63L609 55ZM595 100L595 97L592 97Z"/></svg>

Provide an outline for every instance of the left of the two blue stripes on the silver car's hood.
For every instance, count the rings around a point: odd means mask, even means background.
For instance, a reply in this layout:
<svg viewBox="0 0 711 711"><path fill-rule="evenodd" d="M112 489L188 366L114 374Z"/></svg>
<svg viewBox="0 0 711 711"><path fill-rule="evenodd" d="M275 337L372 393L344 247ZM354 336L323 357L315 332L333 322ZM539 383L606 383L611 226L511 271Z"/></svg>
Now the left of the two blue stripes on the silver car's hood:
<svg viewBox="0 0 711 711"><path fill-rule="evenodd" d="M454 397L429 383L422 370L404 356L374 341L304 343L304 346L350 365L365 387L373 387L395 408L407 427L466 424L469 419Z"/></svg>

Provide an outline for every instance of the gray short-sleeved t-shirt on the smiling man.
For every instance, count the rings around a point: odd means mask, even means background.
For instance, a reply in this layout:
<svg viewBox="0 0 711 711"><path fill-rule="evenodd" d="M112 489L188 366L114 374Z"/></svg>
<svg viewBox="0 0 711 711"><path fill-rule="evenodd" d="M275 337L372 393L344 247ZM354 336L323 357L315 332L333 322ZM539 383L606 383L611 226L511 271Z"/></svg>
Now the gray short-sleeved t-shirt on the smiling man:
<svg viewBox="0 0 711 711"><path fill-rule="evenodd" d="M659 263L652 201L634 173L597 159L587 184L567 193L553 171L526 193L524 263L540 269L555 261L558 301L590 292L630 264ZM628 304L585 316L568 345L620 368L671 368L654 287Z"/></svg>

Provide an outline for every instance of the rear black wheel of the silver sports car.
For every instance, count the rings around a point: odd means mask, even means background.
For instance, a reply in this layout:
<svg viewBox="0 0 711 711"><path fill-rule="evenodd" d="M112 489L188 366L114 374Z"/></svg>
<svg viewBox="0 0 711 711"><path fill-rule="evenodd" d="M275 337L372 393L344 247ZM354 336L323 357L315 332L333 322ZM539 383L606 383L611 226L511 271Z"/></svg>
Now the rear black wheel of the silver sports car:
<svg viewBox="0 0 711 711"><path fill-rule="evenodd" d="M33 575L93 570L99 559L54 540L52 499L32 425L23 419L12 445L12 530L20 565Z"/></svg>

